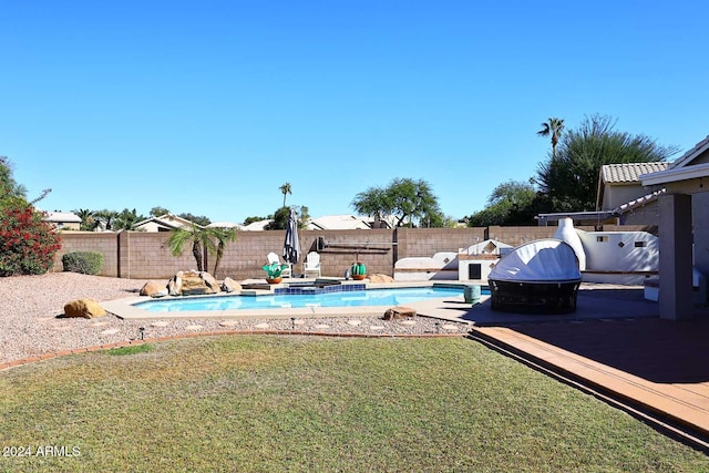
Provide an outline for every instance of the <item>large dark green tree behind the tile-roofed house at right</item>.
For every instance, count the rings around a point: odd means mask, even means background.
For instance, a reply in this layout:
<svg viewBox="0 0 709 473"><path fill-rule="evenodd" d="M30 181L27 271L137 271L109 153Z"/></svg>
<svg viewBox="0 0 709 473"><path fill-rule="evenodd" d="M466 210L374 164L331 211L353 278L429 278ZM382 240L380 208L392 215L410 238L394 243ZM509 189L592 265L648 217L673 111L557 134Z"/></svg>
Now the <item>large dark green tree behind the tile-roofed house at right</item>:
<svg viewBox="0 0 709 473"><path fill-rule="evenodd" d="M549 203L546 212L594 210L604 164L665 161L678 151L641 134L615 131L615 123L604 115L586 117L578 130L564 134L556 157L538 165L535 181Z"/></svg>

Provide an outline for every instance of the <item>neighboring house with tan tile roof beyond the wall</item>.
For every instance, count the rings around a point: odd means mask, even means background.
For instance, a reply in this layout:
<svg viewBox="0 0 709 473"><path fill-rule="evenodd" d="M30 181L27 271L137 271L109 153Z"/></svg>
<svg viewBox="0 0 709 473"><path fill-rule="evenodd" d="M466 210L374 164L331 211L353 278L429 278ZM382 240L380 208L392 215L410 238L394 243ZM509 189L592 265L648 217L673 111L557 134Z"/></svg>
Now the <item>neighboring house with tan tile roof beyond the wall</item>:
<svg viewBox="0 0 709 473"><path fill-rule="evenodd" d="M657 225L657 198L665 189L649 189L640 182L640 175L665 171L669 165L666 162L605 164L598 176L596 212L540 214L537 220L542 226L566 217L575 225Z"/></svg>

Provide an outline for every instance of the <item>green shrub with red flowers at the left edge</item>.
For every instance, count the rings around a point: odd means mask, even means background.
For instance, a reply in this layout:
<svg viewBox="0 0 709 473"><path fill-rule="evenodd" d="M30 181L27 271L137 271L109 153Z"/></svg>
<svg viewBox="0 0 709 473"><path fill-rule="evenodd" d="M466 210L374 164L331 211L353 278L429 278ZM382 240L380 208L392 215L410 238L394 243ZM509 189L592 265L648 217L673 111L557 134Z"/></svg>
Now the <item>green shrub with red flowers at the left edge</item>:
<svg viewBox="0 0 709 473"><path fill-rule="evenodd" d="M44 214L21 199L0 205L0 276L44 274L60 248Z"/></svg>

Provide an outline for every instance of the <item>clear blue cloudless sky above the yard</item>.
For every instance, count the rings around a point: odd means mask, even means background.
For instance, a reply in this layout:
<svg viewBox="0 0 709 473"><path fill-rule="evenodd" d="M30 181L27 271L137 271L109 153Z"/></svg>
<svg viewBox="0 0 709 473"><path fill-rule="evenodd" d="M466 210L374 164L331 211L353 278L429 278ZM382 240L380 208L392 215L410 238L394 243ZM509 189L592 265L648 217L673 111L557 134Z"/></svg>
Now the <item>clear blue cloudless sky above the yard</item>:
<svg viewBox="0 0 709 473"><path fill-rule="evenodd" d="M484 208L596 113L687 151L709 134L703 1L0 2L0 155L43 209L243 222L351 213L425 179ZM678 157L679 155L677 155Z"/></svg>

